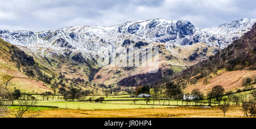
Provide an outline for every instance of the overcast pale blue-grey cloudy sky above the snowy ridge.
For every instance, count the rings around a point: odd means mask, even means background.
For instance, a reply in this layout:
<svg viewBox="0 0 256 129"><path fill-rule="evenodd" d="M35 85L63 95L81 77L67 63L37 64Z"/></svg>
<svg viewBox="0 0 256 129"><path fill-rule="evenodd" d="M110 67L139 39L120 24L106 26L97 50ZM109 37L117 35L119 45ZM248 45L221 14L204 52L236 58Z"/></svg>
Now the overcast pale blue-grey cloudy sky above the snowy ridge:
<svg viewBox="0 0 256 129"><path fill-rule="evenodd" d="M255 19L255 5L255 0L0 0L0 28L40 32L155 18L189 20L206 28Z"/></svg>

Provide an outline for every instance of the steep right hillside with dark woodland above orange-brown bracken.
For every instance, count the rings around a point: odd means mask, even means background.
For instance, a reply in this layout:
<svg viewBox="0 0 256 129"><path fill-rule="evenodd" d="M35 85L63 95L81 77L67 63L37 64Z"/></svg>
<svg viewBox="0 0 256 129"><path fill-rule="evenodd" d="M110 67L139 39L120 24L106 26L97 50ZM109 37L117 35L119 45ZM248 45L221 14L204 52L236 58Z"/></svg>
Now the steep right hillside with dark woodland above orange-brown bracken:
<svg viewBox="0 0 256 129"><path fill-rule="evenodd" d="M245 88L242 80L248 78L251 88L255 87L255 61L256 24L226 49L176 75L175 80L181 80L186 92L198 88L206 93L216 85L224 86L226 92L235 91Z"/></svg>

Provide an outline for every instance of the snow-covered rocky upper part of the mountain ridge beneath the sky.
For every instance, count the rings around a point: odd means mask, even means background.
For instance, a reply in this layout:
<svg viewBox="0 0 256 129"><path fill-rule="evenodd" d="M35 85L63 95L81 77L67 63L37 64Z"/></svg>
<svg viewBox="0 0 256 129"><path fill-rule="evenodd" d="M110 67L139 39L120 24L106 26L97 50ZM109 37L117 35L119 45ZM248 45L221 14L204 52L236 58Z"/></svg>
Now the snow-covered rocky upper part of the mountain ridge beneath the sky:
<svg viewBox="0 0 256 129"><path fill-rule="evenodd" d="M147 42L146 45L164 42L167 49L171 49L174 44L185 46L197 42L223 49L249 31L255 22L256 19L241 19L219 27L201 29L185 20L152 19L109 27L85 25L38 33L0 29L0 38L43 56L81 53L86 58L92 58L110 49L119 53L127 45L139 41Z"/></svg>

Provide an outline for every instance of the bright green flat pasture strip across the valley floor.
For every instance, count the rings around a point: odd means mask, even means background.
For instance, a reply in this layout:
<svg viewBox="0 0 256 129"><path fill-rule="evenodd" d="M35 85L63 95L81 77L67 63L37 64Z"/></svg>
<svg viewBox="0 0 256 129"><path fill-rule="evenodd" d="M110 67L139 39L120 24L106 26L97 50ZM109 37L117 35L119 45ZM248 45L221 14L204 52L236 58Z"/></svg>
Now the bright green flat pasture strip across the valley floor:
<svg viewBox="0 0 256 129"><path fill-rule="evenodd" d="M48 100L43 100L42 96L35 95L38 98L38 106L57 106L60 109L85 109L85 110L98 110L98 109L151 109L151 108L168 108L171 106L176 105L186 105L185 102L182 101L158 101L158 100L151 100L146 104L144 98L134 98L131 97L130 94L122 94L117 96L87 96L85 97L85 102L78 102L78 101L64 101L62 100L63 96L54 96L54 100L52 100L52 96L49 96ZM102 103L96 103L94 101L89 102L89 98L96 98L104 97L105 100ZM133 102L136 99L137 101ZM125 101L124 101L125 100ZM189 105L193 105L192 103ZM42 109L43 110L43 109Z"/></svg>

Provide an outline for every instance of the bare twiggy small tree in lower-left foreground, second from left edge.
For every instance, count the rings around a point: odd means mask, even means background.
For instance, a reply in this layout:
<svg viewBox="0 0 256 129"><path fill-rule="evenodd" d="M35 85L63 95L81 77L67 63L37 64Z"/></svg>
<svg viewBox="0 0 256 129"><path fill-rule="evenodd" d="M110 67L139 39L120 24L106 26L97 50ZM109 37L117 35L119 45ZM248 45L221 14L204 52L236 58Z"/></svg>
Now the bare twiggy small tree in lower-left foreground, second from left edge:
<svg viewBox="0 0 256 129"><path fill-rule="evenodd" d="M35 110L35 105L37 104L38 100L36 100L35 97L22 96L18 102L19 108L16 111L15 117L22 118L24 113L26 113L28 110Z"/></svg>

